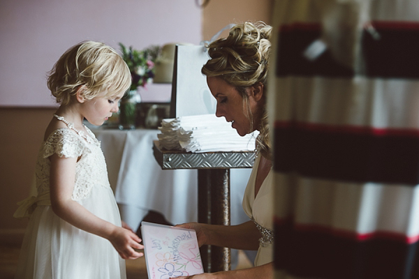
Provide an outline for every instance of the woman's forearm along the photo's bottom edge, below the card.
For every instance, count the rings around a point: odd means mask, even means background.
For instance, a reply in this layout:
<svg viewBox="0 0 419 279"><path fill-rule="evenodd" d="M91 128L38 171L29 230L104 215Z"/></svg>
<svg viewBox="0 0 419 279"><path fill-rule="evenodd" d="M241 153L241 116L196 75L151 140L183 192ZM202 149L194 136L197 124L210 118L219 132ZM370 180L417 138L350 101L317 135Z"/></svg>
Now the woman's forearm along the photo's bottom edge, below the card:
<svg viewBox="0 0 419 279"><path fill-rule="evenodd" d="M262 266L235 271L219 271L216 273L203 273L194 276L178 277L177 279L271 279L274 277L274 264L263 264Z"/></svg>

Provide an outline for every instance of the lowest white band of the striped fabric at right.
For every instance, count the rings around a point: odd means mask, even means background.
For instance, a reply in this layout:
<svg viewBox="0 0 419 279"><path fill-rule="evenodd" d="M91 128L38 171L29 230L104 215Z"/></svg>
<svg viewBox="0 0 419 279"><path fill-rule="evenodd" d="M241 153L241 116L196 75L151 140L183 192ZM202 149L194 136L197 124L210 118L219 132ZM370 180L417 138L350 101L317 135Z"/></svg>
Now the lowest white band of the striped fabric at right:
<svg viewBox="0 0 419 279"><path fill-rule="evenodd" d="M359 234L419 234L419 186L274 177L277 218Z"/></svg>

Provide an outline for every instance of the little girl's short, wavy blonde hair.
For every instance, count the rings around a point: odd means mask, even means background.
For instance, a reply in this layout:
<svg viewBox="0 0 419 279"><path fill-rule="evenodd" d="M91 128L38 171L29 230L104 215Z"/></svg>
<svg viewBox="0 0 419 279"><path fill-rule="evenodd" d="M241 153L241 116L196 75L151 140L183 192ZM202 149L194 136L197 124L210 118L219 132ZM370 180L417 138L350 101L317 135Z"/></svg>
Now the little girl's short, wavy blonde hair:
<svg viewBox="0 0 419 279"><path fill-rule="evenodd" d="M86 100L126 92L131 86L131 73L112 47L84 41L61 55L48 75L47 86L57 103L67 105L80 86Z"/></svg>

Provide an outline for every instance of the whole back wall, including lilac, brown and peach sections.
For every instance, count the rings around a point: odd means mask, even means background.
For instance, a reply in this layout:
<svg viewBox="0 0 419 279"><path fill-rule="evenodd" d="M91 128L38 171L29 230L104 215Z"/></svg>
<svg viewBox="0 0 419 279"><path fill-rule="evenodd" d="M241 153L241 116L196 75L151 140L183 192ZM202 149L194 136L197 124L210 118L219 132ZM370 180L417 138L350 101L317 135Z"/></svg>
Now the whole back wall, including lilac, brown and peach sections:
<svg viewBox="0 0 419 279"><path fill-rule="evenodd" d="M198 44L201 29L209 40L229 23L270 23L272 1L210 0L200 23L195 0L0 0L0 242L22 241L27 226L27 219L17 220L13 213L29 194L36 154L54 113L45 73L61 52L85 39L138 49L179 41ZM142 24L146 18L149 23ZM149 89L144 99L170 98L170 85L154 86L166 89Z"/></svg>

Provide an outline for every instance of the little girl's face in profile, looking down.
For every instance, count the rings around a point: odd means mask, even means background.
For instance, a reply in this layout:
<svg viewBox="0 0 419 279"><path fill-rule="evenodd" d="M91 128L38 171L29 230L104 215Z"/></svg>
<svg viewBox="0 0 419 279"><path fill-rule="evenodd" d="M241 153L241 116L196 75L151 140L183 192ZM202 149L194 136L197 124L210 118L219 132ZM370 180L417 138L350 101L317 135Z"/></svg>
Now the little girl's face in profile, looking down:
<svg viewBox="0 0 419 279"><path fill-rule="evenodd" d="M118 112L118 102L124 92L112 97L95 97L82 103L83 116L94 126L101 126L113 112Z"/></svg>

